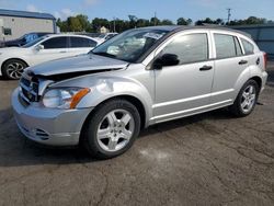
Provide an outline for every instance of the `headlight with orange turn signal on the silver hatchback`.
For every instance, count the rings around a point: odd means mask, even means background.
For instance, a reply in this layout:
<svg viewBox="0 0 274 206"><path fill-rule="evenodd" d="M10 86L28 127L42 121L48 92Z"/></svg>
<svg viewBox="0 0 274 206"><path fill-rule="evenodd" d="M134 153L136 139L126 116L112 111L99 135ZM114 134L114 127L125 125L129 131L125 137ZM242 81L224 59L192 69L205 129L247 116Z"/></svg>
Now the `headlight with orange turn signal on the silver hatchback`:
<svg viewBox="0 0 274 206"><path fill-rule="evenodd" d="M50 108L75 108L89 92L89 88L52 89L44 94L43 104Z"/></svg>

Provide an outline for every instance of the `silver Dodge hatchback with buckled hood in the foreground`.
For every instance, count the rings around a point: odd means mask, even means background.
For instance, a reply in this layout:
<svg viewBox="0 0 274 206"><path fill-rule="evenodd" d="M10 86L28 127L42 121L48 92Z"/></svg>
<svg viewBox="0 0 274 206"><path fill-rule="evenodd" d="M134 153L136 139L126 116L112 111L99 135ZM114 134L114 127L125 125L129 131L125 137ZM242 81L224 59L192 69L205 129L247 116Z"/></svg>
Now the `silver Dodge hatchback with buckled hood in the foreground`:
<svg viewBox="0 0 274 206"><path fill-rule="evenodd" d="M113 158L152 124L225 106L249 115L265 62L255 43L232 30L135 28L87 55L26 69L12 106L30 139L81 144L95 158Z"/></svg>

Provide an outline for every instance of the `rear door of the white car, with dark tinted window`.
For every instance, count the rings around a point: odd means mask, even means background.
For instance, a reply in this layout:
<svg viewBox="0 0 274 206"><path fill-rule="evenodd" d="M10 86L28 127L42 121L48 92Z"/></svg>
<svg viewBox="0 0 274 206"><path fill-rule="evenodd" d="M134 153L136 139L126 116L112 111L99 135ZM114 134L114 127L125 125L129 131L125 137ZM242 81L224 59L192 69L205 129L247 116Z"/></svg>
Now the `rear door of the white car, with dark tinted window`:
<svg viewBox="0 0 274 206"><path fill-rule="evenodd" d="M90 38L80 36L70 36L68 53L70 54L70 56L87 54L95 46L96 42Z"/></svg>

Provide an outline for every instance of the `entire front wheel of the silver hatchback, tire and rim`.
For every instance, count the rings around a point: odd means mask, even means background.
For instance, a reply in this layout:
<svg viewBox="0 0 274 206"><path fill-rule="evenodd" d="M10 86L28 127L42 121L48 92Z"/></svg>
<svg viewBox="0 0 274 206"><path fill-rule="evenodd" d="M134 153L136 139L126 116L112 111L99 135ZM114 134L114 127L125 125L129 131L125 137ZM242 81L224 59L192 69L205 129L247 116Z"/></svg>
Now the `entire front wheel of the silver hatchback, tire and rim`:
<svg viewBox="0 0 274 206"><path fill-rule="evenodd" d="M95 159L127 151L140 131L140 115L130 102L115 99L99 105L85 121L81 145Z"/></svg>

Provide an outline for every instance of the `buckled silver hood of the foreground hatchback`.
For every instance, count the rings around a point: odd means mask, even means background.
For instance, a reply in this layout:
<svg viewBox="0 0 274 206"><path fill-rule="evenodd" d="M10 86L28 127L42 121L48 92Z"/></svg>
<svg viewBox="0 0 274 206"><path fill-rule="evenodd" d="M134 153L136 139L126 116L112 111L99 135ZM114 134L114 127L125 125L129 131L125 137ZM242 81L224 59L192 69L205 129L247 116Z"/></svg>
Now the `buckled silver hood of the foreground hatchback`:
<svg viewBox="0 0 274 206"><path fill-rule="evenodd" d="M27 72L38 76L56 76L68 73L88 73L100 70L122 69L128 65L126 61L98 56L79 55L76 57L62 58L48 61L42 65L30 67Z"/></svg>

